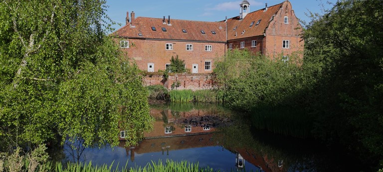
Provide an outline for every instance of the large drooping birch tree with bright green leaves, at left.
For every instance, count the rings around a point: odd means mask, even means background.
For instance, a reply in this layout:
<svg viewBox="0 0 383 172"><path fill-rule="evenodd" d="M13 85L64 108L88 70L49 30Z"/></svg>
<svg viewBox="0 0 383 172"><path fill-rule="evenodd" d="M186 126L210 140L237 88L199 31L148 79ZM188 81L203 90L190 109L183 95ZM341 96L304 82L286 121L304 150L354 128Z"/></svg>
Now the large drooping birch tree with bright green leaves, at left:
<svg viewBox="0 0 383 172"><path fill-rule="evenodd" d="M139 70L108 37L105 0L1 0L0 142L135 144L151 128Z"/></svg>

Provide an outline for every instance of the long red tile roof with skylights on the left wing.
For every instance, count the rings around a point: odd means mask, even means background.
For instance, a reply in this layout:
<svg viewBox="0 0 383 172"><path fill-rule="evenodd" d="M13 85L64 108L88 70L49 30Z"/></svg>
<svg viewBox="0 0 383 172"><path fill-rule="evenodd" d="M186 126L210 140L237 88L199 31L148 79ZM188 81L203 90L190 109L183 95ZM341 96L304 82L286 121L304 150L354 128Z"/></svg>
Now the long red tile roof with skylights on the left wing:
<svg viewBox="0 0 383 172"><path fill-rule="evenodd" d="M223 22L207 22L172 19L168 25L168 18L163 23L163 18L137 17L135 27L125 25L114 32L119 37L142 38L142 39L166 39L186 40L203 42L226 42L226 25ZM156 31L152 27L156 27ZM166 31L162 30L165 27ZM183 29L187 32L184 33ZM201 33L201 30L205 34ZM211 31L214 31L213 34ZM139 36L139 33L142 36Z"/></svg>

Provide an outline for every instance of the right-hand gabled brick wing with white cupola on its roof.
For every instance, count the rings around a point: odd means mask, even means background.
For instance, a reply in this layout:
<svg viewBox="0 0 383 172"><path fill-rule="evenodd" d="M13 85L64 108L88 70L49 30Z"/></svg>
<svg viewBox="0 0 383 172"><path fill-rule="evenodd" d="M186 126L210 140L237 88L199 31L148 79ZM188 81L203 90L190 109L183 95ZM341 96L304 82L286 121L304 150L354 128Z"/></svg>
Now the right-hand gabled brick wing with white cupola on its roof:
<svg viewBox="0 0 383 172"><path fill-rule="evenodd" d="M303 53L302 26L288 0L253 12L249 2L240 4L240 15L227 19L227 48L247 48L273 59ZM286 59L287 60L287 57Z"/></svg>

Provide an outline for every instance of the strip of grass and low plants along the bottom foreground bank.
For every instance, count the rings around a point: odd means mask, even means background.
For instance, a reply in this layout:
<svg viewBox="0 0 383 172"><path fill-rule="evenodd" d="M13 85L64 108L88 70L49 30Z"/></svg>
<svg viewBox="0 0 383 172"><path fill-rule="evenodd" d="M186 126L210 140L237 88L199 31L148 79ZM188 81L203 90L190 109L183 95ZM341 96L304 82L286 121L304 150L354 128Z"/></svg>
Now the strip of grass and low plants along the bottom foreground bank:
<svg viewBox="0 0 383 172"><path fill-rule="evenodd" d="M48 155L44 146L39 146L31 153L23 154L20 148L12 154L0 153L0 172L216 172L211 168L199 168L198 163L193 164L187 161L174 162L167 160L164 164L161 160L158 163L152 162L145 167L120 168L112 165L94 166L89 163L68 163L63 167L61 162L55 167L48 161Z"/></svg>

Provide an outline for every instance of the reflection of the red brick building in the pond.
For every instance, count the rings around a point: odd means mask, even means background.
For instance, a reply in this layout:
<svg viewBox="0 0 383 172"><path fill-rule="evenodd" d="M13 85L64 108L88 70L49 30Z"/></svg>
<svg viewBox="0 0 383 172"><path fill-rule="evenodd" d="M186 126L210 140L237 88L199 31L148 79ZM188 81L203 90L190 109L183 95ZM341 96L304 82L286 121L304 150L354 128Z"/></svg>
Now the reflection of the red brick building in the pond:
<svg viewBox="0 0 383 172"><path fill-rule="evenodd" d="M156 118L154 130L144 133L145 139L136 147L125 147L124 139L121 139L120 147L126 149L127 156L134 162L135 154L147 154L162 152L169 156L172 151L188 150L204 147L222 147L224 134L216 132L218 127L230 126L228 117L208 115L203 110L191 110L188 112L172 112L171 110L151 109L151 115ZM235 138L233 138L235 139ZM256 151L246 148L225 148L233 154L232 167L238 170L245 168L245 161L257 167L261 172L281 172L282 166L278 167L273 159L260 156ZM235 160L235 163L234 163ZM154 160L156 162L156 160ZM175 160L178 161L178 160ZM281 164L281 163L280 163Z"/></svg>

